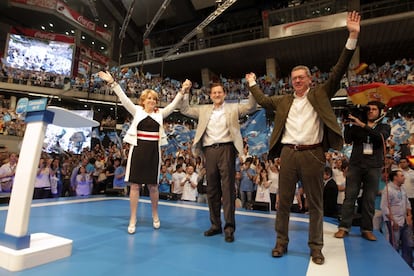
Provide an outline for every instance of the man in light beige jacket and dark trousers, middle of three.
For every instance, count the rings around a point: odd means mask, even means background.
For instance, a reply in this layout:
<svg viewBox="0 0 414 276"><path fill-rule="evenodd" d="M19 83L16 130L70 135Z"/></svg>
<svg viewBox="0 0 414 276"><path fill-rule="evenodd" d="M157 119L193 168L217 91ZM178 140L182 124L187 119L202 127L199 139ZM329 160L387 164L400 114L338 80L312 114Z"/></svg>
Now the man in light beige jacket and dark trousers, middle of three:
<svg viewBox="0 0 414 276"><path fill-rule="evenodd" d="M187 95L183 99L180 112L198 119L192 151L196 157L205 157L211 222L211 227L204 232L204 236L223 232L220 213L223 201L225 241L233 242L236 230L236 155L243 153L239 118L256 110L256 101L249 95L245 104L226 103L225 97L223 85L213 83L210 89L213 104L189 106Z"/></svg>

